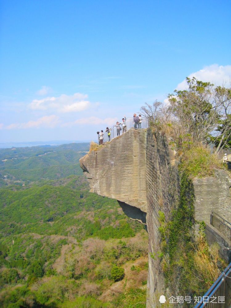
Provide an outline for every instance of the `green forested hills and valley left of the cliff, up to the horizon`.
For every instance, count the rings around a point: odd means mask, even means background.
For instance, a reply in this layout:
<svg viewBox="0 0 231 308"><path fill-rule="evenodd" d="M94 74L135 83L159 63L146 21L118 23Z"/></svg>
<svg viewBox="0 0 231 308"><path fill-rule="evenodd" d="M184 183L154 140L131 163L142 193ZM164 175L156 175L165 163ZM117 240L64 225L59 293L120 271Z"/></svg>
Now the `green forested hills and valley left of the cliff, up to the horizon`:
<svg viewBox="0 0 231 308"><path fill-rule="evenodd" d="M0 306L146 306L144 226L89 192L87 143L0 150Z"/></svg>

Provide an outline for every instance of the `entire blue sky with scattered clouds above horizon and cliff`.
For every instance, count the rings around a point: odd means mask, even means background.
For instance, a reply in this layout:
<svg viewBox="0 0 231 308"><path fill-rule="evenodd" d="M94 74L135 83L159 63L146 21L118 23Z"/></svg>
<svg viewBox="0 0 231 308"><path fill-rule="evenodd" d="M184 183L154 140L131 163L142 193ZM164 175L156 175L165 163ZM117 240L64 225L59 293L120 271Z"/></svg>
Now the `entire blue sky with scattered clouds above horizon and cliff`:
<svg viewBox="0 0 231 308"><path fill-rule="evenodd" d="M0 142L94 140L231 75L231 2L0 0Z"/></svg>

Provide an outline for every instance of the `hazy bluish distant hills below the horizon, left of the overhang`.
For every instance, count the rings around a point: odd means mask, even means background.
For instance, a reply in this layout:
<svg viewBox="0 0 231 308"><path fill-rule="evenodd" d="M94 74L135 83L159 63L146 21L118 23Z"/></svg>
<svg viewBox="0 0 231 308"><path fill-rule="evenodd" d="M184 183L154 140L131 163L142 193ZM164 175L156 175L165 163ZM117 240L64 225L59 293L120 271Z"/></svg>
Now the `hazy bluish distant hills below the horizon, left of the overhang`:
<svg viewBox="0 0 231 308"><path fill-rule="evenodd" d="M0 186L80 175L79 158L88 149L89 143L0 149Z"/></svg>

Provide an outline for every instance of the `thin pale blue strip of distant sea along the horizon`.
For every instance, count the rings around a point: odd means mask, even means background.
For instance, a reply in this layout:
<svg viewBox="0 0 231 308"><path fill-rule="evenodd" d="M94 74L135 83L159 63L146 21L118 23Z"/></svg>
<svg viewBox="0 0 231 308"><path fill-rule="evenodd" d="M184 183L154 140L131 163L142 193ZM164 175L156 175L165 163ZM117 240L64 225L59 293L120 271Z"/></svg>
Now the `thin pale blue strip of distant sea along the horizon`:
<svg viewBox="0 0 231 308"><path fill-rule="evenodd" d="M36 147L38 145L60 145L69 143L84 143L90 142L90 140L50 140L50 141L28 141L28 142L6 142L0 143L0 148L25 148Z"/></svg>

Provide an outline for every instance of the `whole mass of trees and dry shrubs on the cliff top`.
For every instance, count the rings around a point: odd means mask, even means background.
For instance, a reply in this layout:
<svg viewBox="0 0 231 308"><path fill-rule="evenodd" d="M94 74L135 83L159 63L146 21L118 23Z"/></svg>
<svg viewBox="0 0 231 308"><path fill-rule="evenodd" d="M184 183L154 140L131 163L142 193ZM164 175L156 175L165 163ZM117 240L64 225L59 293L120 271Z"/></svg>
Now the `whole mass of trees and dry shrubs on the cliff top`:
<svg viewBox="0 0 231 308"><path fill-rule="evenodd" d="M169 133L176 150L198 144L216 146L215 152L230 147L231 88L186 78L188 89L168 95L169 104L156 101L141 110L157 129Z"/></svg>

